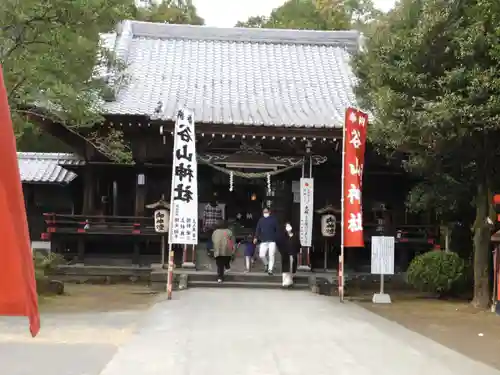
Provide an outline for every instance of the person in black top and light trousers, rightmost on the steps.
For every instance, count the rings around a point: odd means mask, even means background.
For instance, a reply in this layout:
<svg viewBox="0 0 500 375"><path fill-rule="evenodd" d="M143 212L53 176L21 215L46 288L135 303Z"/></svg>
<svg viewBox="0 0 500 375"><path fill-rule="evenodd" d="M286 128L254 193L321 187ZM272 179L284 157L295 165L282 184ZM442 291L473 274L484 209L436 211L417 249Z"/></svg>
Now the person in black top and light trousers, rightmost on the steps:
<svg viewBox="0 0 500 375"><path fill-rule="evenodd" d="M297 272L297 256L300 251L300 241L293 232L292 225L287 222L285 230L280 236L278 248L281 254L281 272L283 272L283 287L293 285L293 277Z"/></svg>

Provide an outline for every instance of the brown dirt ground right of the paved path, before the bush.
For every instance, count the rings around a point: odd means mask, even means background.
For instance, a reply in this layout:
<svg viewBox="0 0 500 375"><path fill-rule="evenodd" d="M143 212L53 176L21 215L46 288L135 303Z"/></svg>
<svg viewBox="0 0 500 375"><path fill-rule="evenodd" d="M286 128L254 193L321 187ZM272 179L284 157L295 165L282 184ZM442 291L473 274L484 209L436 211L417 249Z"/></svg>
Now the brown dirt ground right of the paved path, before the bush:
<svg viewBox="0 0 500 375"><path fill-rule="evenodd" d="M374 305L372 295L354 297L364 308L470 358L500 369L500 316L464 301L391 294L390 305Z"/></svg>

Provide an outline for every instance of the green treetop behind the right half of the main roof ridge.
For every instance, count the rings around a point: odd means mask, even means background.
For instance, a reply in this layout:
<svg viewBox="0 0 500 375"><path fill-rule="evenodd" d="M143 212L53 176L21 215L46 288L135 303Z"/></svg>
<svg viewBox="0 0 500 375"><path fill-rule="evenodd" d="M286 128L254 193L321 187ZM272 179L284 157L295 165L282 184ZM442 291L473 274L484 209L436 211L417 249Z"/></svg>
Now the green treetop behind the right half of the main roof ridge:
<svg viewBox="0 0 500 375"><path fill-rule="evenodd" d="M371 0L288 0L269 16L253 16L236 26L347 30L365 27L379 13Z"/></svg>

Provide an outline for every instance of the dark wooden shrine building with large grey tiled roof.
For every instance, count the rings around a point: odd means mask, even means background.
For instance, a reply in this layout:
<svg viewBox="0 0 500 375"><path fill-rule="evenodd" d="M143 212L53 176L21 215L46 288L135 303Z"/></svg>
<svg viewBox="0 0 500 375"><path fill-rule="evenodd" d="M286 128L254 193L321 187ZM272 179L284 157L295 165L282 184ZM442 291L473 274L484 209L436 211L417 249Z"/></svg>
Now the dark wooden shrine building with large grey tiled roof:
<svg viewBox="0 0 500 375"><path fill-rule="evenodd" d="M321 212L340 221L342 127L356 106L350 59L357 31L214 28L125 21L105 45L126 66L101 67L110 87L103 123L74 133L49 120L45 131L74 150L78 162L65 185L71 210L45 212L43 238L52 251L84 264L159 262L161 235L148 205L171 189L172 131L179 108L194 111L199 215L214 199L237 236L252 234L263 207L298 229L301 177L314 178L313 246L302 263L336 267L337 234L321 235ZM117 152L99 139L120 139ZM233 172L233 173L231 173ZM405 210L412 181L367 147L364 227L367 240L381 227L398 232L398 246L435 239L430 215ZM151 206L150 206L151 207ZM200 225L201 228L201 225ZM200 245L207 237L199 234ZM348 267L369 262L369 250L349 249ZM179 260L196 262L194 253ZM189 259L188 259L189 258Z"/></svg>

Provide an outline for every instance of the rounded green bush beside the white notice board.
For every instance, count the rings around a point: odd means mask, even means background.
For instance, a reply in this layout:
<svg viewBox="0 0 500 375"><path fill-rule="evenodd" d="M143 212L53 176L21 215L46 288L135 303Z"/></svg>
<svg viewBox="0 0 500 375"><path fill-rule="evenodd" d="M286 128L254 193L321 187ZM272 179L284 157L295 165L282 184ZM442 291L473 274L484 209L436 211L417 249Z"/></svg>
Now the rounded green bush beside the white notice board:
<svg viewBox="0 0 500 375"><path fill-rule="evenodd" d="M406 277L422 292L443 295L465 277L465 263L456 253L430 251L413 259Z"/></svg>

